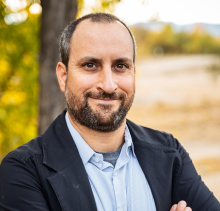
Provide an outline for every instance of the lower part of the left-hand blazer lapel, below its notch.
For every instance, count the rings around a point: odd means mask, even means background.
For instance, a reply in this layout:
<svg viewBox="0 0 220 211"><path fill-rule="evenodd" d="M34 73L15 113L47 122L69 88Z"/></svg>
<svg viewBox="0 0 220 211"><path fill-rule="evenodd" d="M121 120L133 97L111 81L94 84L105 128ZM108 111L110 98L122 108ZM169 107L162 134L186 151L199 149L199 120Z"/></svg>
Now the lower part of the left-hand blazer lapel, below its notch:
<svg viewBox="0 0 220 211"><path fill-rule="evenodd" d="M81 159L48 178L63 211L96 211L88 176Z"/></svg>

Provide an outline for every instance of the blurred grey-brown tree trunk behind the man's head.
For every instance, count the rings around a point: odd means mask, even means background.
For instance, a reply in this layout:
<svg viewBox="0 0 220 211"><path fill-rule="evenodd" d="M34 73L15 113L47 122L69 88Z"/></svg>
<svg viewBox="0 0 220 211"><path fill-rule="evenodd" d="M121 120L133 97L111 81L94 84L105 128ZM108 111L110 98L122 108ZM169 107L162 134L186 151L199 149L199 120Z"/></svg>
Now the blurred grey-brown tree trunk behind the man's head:
<svg viewBox="0 0 220 211"><path fill-rule="evenodd" d="M56 78L59 39L64 28L76 18L77 0L41 0L39 126L42 134L65 108L64 95Z"/></svg>

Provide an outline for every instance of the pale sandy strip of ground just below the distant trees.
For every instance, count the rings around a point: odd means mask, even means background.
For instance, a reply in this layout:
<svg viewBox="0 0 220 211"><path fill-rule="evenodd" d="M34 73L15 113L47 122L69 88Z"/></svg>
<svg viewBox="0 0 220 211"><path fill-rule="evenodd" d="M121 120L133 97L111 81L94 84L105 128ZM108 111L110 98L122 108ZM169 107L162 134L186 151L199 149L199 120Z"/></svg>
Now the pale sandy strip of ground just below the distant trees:
<svg viewBox="0 0 220 211"><path fill-rule="evenodd" d="M151 58L137 63L135 104L198 103L220 99L220 77L214 82L207 67L215 56Z"/></svg>

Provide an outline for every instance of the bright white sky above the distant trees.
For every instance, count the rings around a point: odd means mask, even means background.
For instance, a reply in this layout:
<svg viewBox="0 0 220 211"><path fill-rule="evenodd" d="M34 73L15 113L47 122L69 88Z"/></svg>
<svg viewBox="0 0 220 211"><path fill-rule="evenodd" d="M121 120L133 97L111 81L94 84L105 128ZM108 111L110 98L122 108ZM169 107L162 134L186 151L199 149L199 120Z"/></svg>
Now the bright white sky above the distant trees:
<svg viewBox="0 0 220 211"><path fill-rule="evenodd" d="M85 0L89 7L95 0ZM176 24L220 24L220 0L122 0L114 14L126 24L157 19Z"/></svg>

